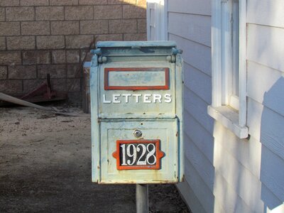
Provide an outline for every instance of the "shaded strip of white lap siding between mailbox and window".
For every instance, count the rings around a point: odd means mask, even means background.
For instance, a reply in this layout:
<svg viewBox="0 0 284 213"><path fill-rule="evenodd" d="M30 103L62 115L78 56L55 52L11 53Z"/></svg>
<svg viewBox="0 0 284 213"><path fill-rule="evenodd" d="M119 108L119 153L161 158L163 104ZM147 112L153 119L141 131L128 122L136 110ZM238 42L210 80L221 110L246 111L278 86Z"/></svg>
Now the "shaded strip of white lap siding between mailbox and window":
<svg viewBox="0 0 284 213"><path fill-rule="evenodd" d="M178 187L192 212L214 212L214 122L207 114L212 99L211 1L169 1L168 11L169 40L178 43L185 60L186 182Z"/></svg>

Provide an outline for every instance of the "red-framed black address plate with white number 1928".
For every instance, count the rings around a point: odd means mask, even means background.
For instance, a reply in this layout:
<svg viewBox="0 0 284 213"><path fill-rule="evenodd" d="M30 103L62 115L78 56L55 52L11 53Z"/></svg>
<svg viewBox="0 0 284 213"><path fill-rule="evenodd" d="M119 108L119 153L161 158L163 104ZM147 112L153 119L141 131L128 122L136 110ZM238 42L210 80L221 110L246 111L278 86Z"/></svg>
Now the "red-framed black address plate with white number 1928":
<svg viewBox="0 0 284 213"><path fill-rule="evenodd" d="M159 170L165 153L160 151L160 140L118 140L112 155L117 170Z"/></svg>

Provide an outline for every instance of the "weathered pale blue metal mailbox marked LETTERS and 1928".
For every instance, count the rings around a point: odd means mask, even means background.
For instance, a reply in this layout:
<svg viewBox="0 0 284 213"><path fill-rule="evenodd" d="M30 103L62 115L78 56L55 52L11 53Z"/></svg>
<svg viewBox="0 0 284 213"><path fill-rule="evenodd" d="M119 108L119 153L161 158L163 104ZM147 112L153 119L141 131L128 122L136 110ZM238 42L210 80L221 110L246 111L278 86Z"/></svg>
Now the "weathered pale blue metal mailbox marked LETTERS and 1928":
<svg viewBox="0 0 284 213"><path fill-rule="evenodd" d="M175 42L99 42L92 53L92 181L182 181L182 58Z"/></svg>

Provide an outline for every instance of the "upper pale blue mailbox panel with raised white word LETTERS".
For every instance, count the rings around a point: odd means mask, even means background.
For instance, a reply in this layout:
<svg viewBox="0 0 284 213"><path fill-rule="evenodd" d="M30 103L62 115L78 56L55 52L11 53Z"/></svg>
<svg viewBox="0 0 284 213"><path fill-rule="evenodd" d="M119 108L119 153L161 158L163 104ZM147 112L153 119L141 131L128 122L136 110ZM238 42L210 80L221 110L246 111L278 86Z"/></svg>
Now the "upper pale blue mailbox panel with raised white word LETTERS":
<svg viewBox="0 0 284 213"><path fill-rule="evenodd" d="M175 64L107 62L99 66L99 118L174 118Z"/></svg>

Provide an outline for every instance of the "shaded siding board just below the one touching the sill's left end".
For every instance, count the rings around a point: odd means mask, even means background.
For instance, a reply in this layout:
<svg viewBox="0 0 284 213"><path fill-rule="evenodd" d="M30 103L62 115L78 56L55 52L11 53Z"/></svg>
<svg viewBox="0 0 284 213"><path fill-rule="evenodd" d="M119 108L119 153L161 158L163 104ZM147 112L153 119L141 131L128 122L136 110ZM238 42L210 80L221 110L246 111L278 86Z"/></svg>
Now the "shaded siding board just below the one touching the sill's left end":
<svg viewBox="0 0 284 213"><path fill-rule="evenodd" d="M184 114L184 132L213 164L214 138L190 114ZM186 143L186 142L185 142Z"/></svg>

